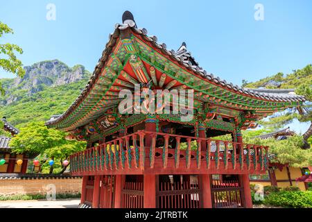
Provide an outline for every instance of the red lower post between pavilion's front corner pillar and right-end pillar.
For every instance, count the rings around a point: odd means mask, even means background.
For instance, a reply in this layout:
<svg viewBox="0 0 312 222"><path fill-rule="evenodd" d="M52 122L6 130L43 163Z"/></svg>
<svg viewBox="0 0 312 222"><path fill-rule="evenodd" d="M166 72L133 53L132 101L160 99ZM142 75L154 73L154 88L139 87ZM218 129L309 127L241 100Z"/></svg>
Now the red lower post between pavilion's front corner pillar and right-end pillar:
<svg viewBox="0 0 312 222"><path fill-rule="evenodd" d="M200 185L200 203L202 208L212 208L211 200L211 181L209 174L201 174L198 176Z"/></svg>

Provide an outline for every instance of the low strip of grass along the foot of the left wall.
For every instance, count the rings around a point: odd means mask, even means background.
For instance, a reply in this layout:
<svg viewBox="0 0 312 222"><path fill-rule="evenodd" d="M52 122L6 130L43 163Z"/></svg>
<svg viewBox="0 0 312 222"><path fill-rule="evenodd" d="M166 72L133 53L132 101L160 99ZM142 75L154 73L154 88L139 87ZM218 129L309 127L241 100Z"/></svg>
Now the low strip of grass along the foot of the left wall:
<svg viewBox="0 0 312 222"><path fill-rule="evenodd" d="M76 194L56 194L56 199L80 198L80 193ZM0 200L45 200L46 195L43 194L18 194L18 195L1 195Z"/></svg>

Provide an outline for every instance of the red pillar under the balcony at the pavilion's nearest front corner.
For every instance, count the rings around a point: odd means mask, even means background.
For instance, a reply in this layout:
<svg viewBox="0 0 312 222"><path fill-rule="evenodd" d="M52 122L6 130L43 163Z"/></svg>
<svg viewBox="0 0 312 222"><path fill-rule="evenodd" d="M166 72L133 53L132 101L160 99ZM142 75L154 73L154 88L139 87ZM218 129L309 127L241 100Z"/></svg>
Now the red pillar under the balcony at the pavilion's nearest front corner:
<svg viewBox="0 0 312 222"><path fill-rule="evenodd" d="M156 175L144 174L144 208L156 207Z"/></svg>

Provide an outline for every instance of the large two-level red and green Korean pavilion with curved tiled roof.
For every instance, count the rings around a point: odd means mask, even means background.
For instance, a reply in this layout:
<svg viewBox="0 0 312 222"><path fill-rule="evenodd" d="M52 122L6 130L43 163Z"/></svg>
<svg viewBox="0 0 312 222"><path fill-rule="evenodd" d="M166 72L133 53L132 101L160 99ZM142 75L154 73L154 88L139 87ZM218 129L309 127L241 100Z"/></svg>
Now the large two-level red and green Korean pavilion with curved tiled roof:
<svg viewBox="0 0 312 222"><path fill-rule="evenodd" d="M69 139L87 141L87 149L70 158L73 176L83 176L81 204L252 207L249 174L266 173L268 147L244 144L241 130L302 105L304 97L227 83L202 69L185 43L168 51L145 28L137 28L130 12L122 21L80 96L64 114L46 122L69 132ZM124 98L119 96L124 90L136 95L136 85L139 92L189 89L193 97L156 103L157 112L139 99L141 112L135 112L137 103L126 109L135 111L120 112ZM183 102L191 105L175 113ZM162 112L165 107L169 112ZM190 110L193 118L185 121ZM232 141L211 139L225 134Z"/></svg>

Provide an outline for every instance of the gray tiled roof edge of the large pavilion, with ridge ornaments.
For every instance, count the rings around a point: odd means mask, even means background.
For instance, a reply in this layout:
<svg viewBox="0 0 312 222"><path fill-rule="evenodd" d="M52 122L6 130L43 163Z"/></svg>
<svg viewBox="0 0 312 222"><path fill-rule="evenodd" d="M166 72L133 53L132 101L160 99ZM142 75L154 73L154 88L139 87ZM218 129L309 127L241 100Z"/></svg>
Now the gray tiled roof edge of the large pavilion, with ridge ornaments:
<svg viewBox="0 0 312 222"><path fill-rule="evenodd" d="M227 89L232 89L234 92L243 94L245 96L254 96L257 99L264 99L268 101L277 101L277 102L305 101L304 96L300 95L281 96L279 94L279 96L277 96L276 94L258 92L255 89L244 89L242 87L239 87L238 85L233 85L233 83L227 83L226 80L222 80L219 77L214 76L213 74L209 74L205 69L202 69L202 67L198 65L198 62L196 62L196 60L191 56L191 52L187 51L187 46L185 43L182 43L182 46L180 46L180 48L176 52L174 50L168 51L166 49L167 48L166 44L157 43L157 37L155 35L150 36L148 35L148 31L146 30L146 28L137 28L137 24L135 23L133 16L130 12L127 11L125 13L127 14L128 19L125 19L123 17L123 24L116 24L114 33L110 33L108 37L109 40L105 45L105 49L102 53L102 56L98 60L93 75L89 79L87 85L85 86L85 89L83 89L83 92L78 96L76 101L74 101L71 104L71 107L66 112L64 112L60 117L56 119L46 121L46 125L51 125L58 121L62 121L62 119L67 117L67 115L70 114L78 106L78 104L80 104L81 101L83 101L83 99L89 92L89 89L92 87L93 83L96 82L98 75L101 74L101 69L105 66L105 63L107 62L108 58L110 58L112 49L114 48L116 42L119 40L121 31L125 31L127 29L131 29L137 35L140 35L142 39L150 42L150 44L152 44L155 48L162 51L162 53L167 55L168 58L171 58L171 60L175 60L180 65L183 65L186 69L195 72L196 74L198 74L198 76L201 76L202 78L207 78L207 80L213 82L216 85L226 87Z"/></svg>

